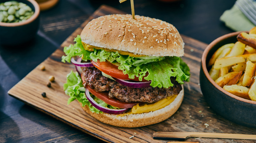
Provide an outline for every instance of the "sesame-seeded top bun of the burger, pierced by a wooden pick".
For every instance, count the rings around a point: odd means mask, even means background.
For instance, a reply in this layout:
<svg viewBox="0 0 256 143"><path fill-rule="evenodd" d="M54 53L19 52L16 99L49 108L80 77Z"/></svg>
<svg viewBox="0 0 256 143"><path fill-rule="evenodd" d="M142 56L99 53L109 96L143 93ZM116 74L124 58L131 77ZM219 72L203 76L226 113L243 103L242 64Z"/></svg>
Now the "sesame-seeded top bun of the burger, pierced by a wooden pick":
<svg viewBox="0 0 256 143"><path fill-rule="evenodd" d="M159 19L129 14L105 15L90 21L81 32L89 45L146 56L183 56L178 30Z"/></svg>

